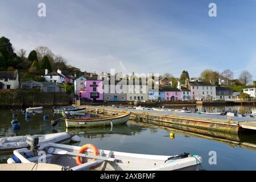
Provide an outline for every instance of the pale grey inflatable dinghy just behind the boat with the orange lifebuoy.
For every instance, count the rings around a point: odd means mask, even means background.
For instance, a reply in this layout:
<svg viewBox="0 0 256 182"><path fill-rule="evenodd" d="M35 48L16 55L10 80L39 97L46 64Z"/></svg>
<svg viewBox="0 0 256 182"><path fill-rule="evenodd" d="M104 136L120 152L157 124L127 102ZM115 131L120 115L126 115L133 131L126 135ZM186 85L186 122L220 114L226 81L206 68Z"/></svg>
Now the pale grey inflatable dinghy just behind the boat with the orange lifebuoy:
<svg viewBox="0 0 256 182"><path fill-rule="evenodd" d="M5 137L0 138L0 154L10 153L18 148L28 147L27 136L19 137ZM67 132L47 134L47 135L36 135L39 138L39 146L43 143L69 143L71 135Z"/></svg>

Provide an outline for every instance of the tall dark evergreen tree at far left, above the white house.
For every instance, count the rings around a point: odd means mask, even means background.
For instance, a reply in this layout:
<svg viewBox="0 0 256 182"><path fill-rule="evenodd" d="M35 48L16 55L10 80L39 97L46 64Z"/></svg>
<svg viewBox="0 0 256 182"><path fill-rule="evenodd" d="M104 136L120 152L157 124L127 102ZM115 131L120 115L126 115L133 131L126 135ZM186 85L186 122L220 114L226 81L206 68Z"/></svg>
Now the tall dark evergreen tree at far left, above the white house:
<svg viewBox="0 0 256 182"><path fill-rule="evenodd" d="M4 36L0 38L0 53L5 58L5 61L6 61L5 68L6 68L8 67L13 57L15 57L15 53L13 51L13 45L10 43L10 40L5 38Z"/></svg>

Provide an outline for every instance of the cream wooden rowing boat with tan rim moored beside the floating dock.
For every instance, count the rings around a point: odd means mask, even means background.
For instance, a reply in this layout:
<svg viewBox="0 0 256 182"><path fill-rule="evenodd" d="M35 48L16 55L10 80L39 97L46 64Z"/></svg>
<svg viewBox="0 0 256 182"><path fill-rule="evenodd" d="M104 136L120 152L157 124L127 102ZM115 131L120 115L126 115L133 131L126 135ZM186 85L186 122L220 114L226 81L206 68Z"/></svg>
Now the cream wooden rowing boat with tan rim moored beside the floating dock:
<svg viewBox="0 0 256 182"><path fill-rule="evenodd" d="M92 126L112 126L125 124L131 113L122 113L116 115L110 115L100 118L66 118L66 127L92 127Z"/></svg>

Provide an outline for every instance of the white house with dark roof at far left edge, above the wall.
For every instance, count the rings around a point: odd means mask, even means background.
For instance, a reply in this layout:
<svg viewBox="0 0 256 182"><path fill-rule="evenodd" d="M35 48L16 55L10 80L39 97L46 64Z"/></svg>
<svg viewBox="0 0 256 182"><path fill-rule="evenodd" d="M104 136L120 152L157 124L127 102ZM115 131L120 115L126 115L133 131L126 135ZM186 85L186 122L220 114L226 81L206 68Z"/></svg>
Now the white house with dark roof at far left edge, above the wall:
<svg viewBox="0 0 256 182"><path fill-rule="evenodd" d="M19 74L18 71L0 71L0 90L18 89Z"/></svg>

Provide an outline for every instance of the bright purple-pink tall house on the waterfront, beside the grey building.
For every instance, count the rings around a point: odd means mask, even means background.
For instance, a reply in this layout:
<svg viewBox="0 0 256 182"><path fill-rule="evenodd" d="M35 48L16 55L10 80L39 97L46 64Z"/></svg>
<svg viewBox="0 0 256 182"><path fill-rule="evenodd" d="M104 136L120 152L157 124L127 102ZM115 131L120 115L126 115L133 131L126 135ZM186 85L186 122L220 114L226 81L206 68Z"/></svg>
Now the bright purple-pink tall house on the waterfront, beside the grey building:
<svg viewBox="0 0 256 182"><path fill-rule="evenodd" d="M85 81L84 91L79 91L80 98L89 98L92 101L103 101L103 81L89 78Z"/></svg>

